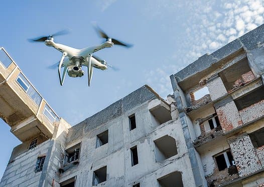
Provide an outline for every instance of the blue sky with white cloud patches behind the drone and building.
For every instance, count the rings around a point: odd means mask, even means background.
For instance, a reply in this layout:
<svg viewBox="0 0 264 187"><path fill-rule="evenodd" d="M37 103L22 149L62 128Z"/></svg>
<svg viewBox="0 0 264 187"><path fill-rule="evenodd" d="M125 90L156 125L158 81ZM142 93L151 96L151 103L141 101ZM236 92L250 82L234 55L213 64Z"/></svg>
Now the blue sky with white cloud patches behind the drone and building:
<svg viewBox="0 0 264 187"><path fill-rule="evenodd" d="M170 75L264 23L264 0L10 0L0 5L0 47L72 126L145 84L166 98L173 93ZM68 29L70 34L55 42L78 49L98 45L103 40L94 22L108 36L134 46L96 52L119 71L95 69L90 87L87 72L81 78L67 76L60 86L57 70L48 67L61 53L28 39ZM0 142L2 177L21 143L2 120Z"/></svg>

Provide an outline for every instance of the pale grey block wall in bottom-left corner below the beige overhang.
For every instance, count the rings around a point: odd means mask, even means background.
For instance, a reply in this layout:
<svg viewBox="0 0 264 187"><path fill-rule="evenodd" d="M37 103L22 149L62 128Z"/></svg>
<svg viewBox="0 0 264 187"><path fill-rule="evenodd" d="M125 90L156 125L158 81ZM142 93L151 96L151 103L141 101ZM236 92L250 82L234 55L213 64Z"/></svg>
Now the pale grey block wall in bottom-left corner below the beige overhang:
<svg viewBox="0 0 264 187"><path fill-rule="evenodd" d="M0 186L38 186L42 171L35 172L37 158L47 153L49 144L47 140L14 158L7 165Z"/></svg>

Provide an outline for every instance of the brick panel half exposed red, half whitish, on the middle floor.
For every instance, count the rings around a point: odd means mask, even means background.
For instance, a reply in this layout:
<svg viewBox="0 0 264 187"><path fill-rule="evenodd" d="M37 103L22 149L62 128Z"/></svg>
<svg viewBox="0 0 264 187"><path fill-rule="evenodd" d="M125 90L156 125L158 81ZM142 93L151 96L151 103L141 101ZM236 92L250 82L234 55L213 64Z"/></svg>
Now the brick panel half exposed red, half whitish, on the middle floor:
<svg viewBox="0 0 264 187"><path fill-rule="evenodd" d="M223 132L227 132L243 124L234 101L219 107L216 109L216 113Z"/></svg>

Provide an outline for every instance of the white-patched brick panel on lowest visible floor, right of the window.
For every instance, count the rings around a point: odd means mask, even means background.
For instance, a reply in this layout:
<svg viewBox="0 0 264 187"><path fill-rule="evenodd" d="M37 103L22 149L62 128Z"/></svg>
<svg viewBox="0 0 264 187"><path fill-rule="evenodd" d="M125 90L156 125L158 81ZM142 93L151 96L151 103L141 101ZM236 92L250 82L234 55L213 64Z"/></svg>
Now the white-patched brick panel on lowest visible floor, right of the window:
<svg viewBox="0 0 264 187"><path fill-rule="evenodd" d="M245 176L262 168L248 135L228 140L239 176Z"/></svg>

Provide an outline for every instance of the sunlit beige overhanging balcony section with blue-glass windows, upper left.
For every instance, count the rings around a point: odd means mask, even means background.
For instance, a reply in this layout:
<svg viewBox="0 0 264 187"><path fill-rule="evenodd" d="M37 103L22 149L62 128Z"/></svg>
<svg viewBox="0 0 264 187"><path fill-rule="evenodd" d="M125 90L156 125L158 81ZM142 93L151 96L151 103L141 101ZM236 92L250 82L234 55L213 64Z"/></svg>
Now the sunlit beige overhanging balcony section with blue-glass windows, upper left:
<svg viewBox="0 0 264 187"><path fill-rule="evenodd" d="M59 120L4 48L0 48L0 117L22 142L43 133L52 137Z"/></svg>

